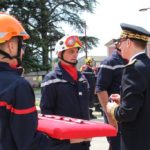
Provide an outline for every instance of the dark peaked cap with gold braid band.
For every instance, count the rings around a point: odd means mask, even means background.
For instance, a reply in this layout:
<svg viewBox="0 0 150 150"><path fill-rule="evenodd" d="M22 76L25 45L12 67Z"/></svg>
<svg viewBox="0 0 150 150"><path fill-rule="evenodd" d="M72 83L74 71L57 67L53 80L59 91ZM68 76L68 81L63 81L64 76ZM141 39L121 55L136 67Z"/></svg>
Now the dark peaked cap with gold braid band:
<svg viewBox="0 0 150 150"><path fill-rule="evenodd" d="M120 38L131 38L145 42L149 41L150 32L148 32L146 29L126 23L121 23L120 26L122 28L122 34Z"/></svg>

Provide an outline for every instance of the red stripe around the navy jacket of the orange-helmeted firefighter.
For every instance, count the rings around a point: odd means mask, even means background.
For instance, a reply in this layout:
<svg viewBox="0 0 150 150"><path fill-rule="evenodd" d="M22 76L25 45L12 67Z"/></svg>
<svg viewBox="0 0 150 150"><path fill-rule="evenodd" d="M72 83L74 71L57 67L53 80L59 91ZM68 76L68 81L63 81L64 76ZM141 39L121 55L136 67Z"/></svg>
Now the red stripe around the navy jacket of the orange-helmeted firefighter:
<svg viewBox="0 0 150 150"><path fill-rule="evenodd" d="M12 113L17 114L17 115L25 115L25 114L30 114L34 111L36 111L36 107L30 107L26 109L16 109L12 105L9 105L8 103L1 101L0 102L0 107L6 107L7 110L10 110Z"/></svg>

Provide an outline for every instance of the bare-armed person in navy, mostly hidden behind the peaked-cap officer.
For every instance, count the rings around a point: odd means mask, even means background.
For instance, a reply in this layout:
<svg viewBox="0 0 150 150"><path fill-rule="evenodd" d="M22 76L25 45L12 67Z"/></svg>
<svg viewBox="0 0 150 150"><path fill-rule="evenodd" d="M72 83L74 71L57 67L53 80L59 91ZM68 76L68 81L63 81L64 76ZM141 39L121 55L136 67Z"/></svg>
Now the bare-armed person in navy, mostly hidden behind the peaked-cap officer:
<svg viewBox="0 0 150 150"><path fill-rule="evenodd" d="M118 39L114 39L112 44L115 46L113 53L100 64L96 82L96 93L104 111L105 122L114 125L113 120L107 114L106 104L112 93L120 93L122 72L127 61L121 57L121 52L118 48ZM120 150L119 132L116 137L108 137L107 139L109 150Z"/></svg>

